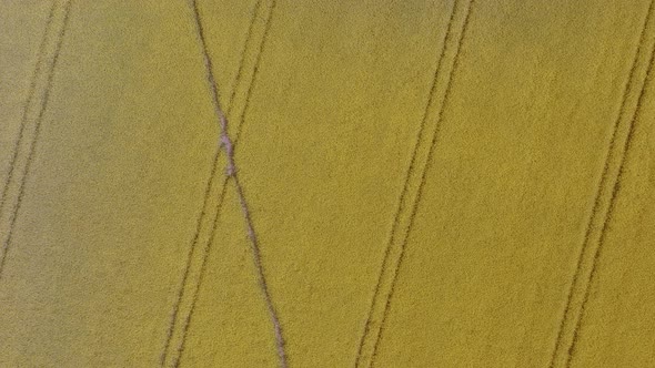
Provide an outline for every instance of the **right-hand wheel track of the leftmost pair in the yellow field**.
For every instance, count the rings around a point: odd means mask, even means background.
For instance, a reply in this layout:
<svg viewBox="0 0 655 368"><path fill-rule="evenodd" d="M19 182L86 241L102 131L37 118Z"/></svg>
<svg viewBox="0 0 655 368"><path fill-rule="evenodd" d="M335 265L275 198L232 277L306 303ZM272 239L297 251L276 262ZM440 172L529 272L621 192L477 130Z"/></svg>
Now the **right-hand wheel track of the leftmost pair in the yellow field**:
<svg viewBox="0 0 655 368"><path fill-rule="evenodd" d="M30 146L30 151L28 154L28 161L26 163L26 166L23 168L23 174L22 174L22 180L20 183L20 187L19 187L19 194L18 194L18 201L16 202L16 205L13 207L13 213L12 216L9 219L9 232L7 234L7 239L4 241L3 244L3 252L2 252L2 257L0 258L0 279L2 278L2 270L4 269L4 264L7 260L7 254L9 253L10 249L10 245L11 245L11 241L12 241L12 236L13 236L13 229L16 227L16 221L18 218L19 212L20 212L20 207L22 205L22 200L24 196L24 186L26 183L28 181L28 176L30 174L30 167L32 165L32 160L34 157L34 152L37 151L37 144L39 142L39 133L41 131L41 123L43 121L43 114L46 112L46 108L48 106L48 102L50 101L50 92L51 92L51 88L52 88L52 78L54 75L54 71L57 68L57 62L59 60L59 52L61 51L61 45L63 43L63 37L66 34L66 30L68 27L68 20L69 20L69 14L70 14L70 8L71 8L71 1L67 1L64 4L64 9L63 9L63 24L61 25L61 30L59 31L58 34L58 41L57 41L57 45L54 48L54 54L52 57L52 63L51 63L51 68L50 68L50 72L48 74L48 79L46 82L46 91L43 92L43 101L41 103L41 108L39 110L39 115L36 120L36 126L34 126L34 136L32 139L32 144Z"/></svg>

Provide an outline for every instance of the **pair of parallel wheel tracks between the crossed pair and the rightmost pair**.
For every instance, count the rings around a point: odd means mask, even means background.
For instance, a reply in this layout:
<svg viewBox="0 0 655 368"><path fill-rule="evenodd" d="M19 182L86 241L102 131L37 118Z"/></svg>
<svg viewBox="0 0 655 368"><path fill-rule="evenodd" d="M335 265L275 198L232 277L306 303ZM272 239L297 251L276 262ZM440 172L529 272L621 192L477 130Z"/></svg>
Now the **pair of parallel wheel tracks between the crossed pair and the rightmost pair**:
<svg viewBox="0 0 655 368"><path fill-rule="evenodd" d="M419 188L417 188L417 193L416 193L416 200L414 201L414 204L412 206L412 212L410 214L406 235L405 235L404 239L401 242L399 259L397 259L397 262L395 264L394 270L393 270L392 276L391 276L392 277L391 278L391 289L389 292L389 296L387 296L386 301L385 301L385 305L384 305L384 310L383 310L383 314L382 314L382 319L380 321L380 328L379 328L379 330L376 333L376 336L375 336L375 339L374 339L373 351L372 351L372 357L371 357L371 366L373 365L373 361L374 361L374 358L375 358L375 354L376 354L377 347L380 345L380 339L381 339L381 336L382 336L382 331L384 329L384 324L386 321L386 317L387 317L390 305L391 305L391 298L392 298L392 296L394 294L394 289L395 289L395 285L396 285L395 283L396 283L396 279L397 279L397 274L399 274L400 267L401 267L402 262L403 262L403 258L404 258L406 241L407 241L409 234L412 231L412 226L414 224L414 217L416 215L416 209L419 207L419 203L421 201L421 196L422 196L422 193L423 193L423 187L425 185L425 175L426 175L426 173L427 173L427 171L430 168L430 161L431 161L431 157L432 157L434 147L436 146L436 140L437 140L437 136L439 136L439 127L442 124L442 121L443 121L443 111L445 110L445 105L447 104L449 96L451 94L452 83L453 83L454 75L456 73L457 67L458 67L460 53L461 53L461 50L462 50L462 45L463 45L464 37L465 37L465 33L466 33L466 29L468 28L468 21L470 21L470 18L471 18L471 10L473 8L474 1L475 0L471 0L468 2L468 4L467 4L466 10L465 10L466 11L466 14L465 14L465 18L464 18L464 22L462 24L461 35L460 35L460 39L457 41L457 49L456 49L455 55L454 55L453 69L451 71L450 75L449 75L449 82L446 84L446 89L445 89L444 96L443 96L443 100L442 100L442 103L441 103L441 108L439 110L439 115L437 115L437 122L436 122L436 125L435 125L435 131L434 131L434 133L432 135L432 140L431 140L431 143L430 143L430 149L427 151L427 157L426 157L427 161L426 161L425 167L424 167L424 170L423 170L423 172L421 174L421 182L419 184ZM454 14L455 14L455 11L456 11L456 7L458 4L460 4L458 2L456 2L456 3L453 4L453 12L451 13L451 20L450 20L450 23L449 23L449 30L446 31L446 37L444 39L444 47L442 49L442 55L440 58L439 67L437 67L437 69L435 71L435 78L433 80L433 86L432 86L432 90L431 90L431 99L432 99L432 95L434 94L433 92L434 92L434 89L435 89L435 85L436 85L436 75L437 75L437 73L439 73L439 71L441 69L441 63L442 63L441 60L443 60L443 58L444 58L446 44L449 43L450 37L452 37L452 30L451 29L453 27L453 19L454 19ZM430 104L427 106L430 106ZM422 125L425 124L426 117L427 117L427 109L425 111L424 120L423 120ZM421 131L422 130L423 130L423 127L421 129ZM422 133L420 133L420 134L422 134ZM421 137L421 135L420 135L420 137ZM414 164L414 160L415 160L415 156L416 156L417 146L419 146L419 143L415 145L414 155L412 157L412 163L410 164L410 170L407 171L407 175L410 175L410 173L413 170L413 164ZM396 213L396 218L394 221L394 225L393 225L393 229L392 229L392 235L390 237L390 242L387 244L387 249L385 252L385 258L387 258L389 255L390 255L390 253L391 253L391 248L390 247L391 247L391 244L393 242L393 236L395 235L395 228L397 228L397 226L400 225L400 218L399 218L400 216L399 215L400 215L402 205L404 203L403 197L404 197L404 193L407 191L407 185L406 185L407 183L409 183L409 181L405 181L405 187L403 188L403 195L401 196L401 202L402 203L399 204L399 213ZM386 264L386 262L387 260L385 259L385 262L383 263L383 265ZM382 269L382 272L380 274L381 277L383 275L383 272L384 272L384 269ZM375 295L377 295L380 293L380 286L382 284L381 277L379 278L379 282L377 282ZM369 315L369 319L366 321L367 325L370 325L371 317L372 317L372 311L373 310L371 309L371 313ZM360 345L360 351L357 354L357 360L355 361L355 366L359 364L359 360L361 359L361 352L362 352L362 347L363 347L363 344L364 344L364 338L365 338L365 335L362 338L362 341L361 341L361 345Z"/></svg>

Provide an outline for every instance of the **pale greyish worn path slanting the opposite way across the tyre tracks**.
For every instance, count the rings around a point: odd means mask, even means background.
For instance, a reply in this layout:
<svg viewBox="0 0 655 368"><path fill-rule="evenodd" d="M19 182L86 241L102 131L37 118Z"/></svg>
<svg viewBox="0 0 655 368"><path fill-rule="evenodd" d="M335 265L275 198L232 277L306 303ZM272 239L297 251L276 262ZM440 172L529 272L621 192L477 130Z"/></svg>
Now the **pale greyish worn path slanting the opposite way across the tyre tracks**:
<svg viewBox="0 0 655 368"><path fill-rule="evenodd" d="M210 92L211 92L211 96L212 96L212 101L213 101L213 105L214 105L214 112L215 112L216 119L219 120L219 125L221 127L221 137L220 137L221 139L221 146L225 151L225 155L228 159L226 176L232 177L234 180L234 186L236 188L236 194L239 197L239 202L241 204L242 214L245 219L245 225L248 228L248 236L251 241L250 242L251 243L251 251L252 251L252 255L253 255L253 263L254 263L254 266L256 269L258 283L260 285L262 296L263 296L264 301L266 304L266 308L269 310L269 316L271 318L271 323L273 324L273 330L274 330L274 335L275 335L280 366L283 368L286 368L288 365L286 365L286 355L285 355L285 350L284 350L284 339L282 336L282 327L281 327L281 324L280 324L280 320L278 317L278 313L276 313L275 307L273 305L271 294L269 292L269 286L268 286L268 283L266 283L266 279L264 276L264 268L263 268L263 264L261 260L259 241L256 237L256 233L254 232L254 226L253 226L252 217L250 214L249 205L248 205L248 202L245 201L245 195L243 193L243 187L239 181L236 165L234 163L234 145L233 145L232 140L229 136L228 119L225 117L225 114L223 113L221 105L220 105L216 81L213 75L212 61L211 61L211 58L208 52L206 40L204 37L202 23L200 21L198 4L194 0L191 0L191 4L193 8L195 25L198 29L198 35L199 35L199 39L200 39L200 42L202 45L202 53L203 53L203 59L204 59L204 64L205 64L206 79L208 79L208 84L210 86ZM270 21L270 19L272 18L274 7L275 7L275 2L273 1L268 21ZM268 31L268 27L269 27L269 24L266 24L266 31ZM265 38L265 34L264 34L264 38ZM263 40L262 40L262 48L263 48ZM256 70L256 67L255 67L255 70Z"/></svg>

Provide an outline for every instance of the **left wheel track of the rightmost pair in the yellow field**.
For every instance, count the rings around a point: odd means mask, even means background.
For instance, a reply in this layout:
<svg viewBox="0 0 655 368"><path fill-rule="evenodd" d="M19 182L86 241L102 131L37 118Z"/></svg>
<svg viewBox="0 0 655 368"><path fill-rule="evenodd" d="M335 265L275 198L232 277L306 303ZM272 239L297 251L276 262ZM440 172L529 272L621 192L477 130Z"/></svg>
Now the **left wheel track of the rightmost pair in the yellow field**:
<svg viewBox="0 0 655 368"><path fill-rule="evenodd" d="M601 196L602 196L603 187L605 187L606 182L608 180L607 178L607 175L608 175L608 172L609 172L609 159L611 159L611 155L612 155L613 147L616 144L616 136L617 136L617 132L618 132L618 125L619 125L623 116L626 113L625 112L625 109L626 109L627 99L628 99L628 95L629 95L631 84L632 84L632 80L633 80L635 70L637 69L638 58L639 58L639 54L642 52L642 47L644 44L644 40L646 38L646 28L647 28L648 20L651 18L651 14L652 14L652 11L653 11L653 3L654 3L654 1L651 1L651 4L648 7L648 11L646 13L646 19L644 21L644 25L642 27L642 32L641 32L641 35L639 35L639 41L638 41L637 50L635 52L634 61L633 61L631 71L628 73L628 76L626 79L625 86L624 86L623 98L622 98L622 103L621 103L621 109L618 111L618 116L616 117L616 120L614 122L613 130L612 130L612 136L609 139L609 145L607 147L607 154L605 156L605 164L603 166L603 173L601 174L601 181L598 183L598 186L596 187L596 195L595 195L595 198L594 198L594 205L592 207L592 213L590 215L590 219L587 222L587 226L586 226L586 229L585 229L585 235L584 235L584 238L583 238L583 246L582 246L581 252L580 252L580 255L577 257L577 264L576 264L575 273L574 273L573 279L571 282L571 286L568 288L568 294L566 296L566 307L564 308L564 311L562 314L562 318L560 319L560 329L557 331L557 337L555 339L555 347L553 349L553 355L551 356L551 362L548 365L550 368L553 368L555 366L555 360L557 358L557 351L560 351L558 347L561 346L562 339L564 338L564 327L565 327L566 320L568 319L567 316L568 316L568 314L571 311L571 308L572 308L572 305L573 305L573 292L575 289L575 286L578 283L578 278L580 278L580 275L582 273L582 265L583 265L583 260L584 260L584 254L585 254L586 248L587 248L588 243L590 243L590 237L591 237L592 228L593 228L593 222L594 222L594 218L597 216L597 213L598 213L599 207L601 207ZM648 72L649 72L649 69L648 69ZM642 94L643 94L643 89L642 89ZM638 100L637 104L641 103L642 94L639 94L639 100ZM632 131L632 123L631 123L631 131ZM622 165L623 165L623 162L622 162ZM614 193L613 193L613 196L612 196L611 201L614 201ZM608 213L607 213L607 215L605 217L605 222L607 222ZM605 231L605 225L603 226L603 231L602 232L604 232L604 231ZM597 254L597 252L596 252L596 254ZM594 264L595 264L595 260L594 260ZM592 267L594 267L594 265ZM574 336L575 336L575 333L574 333Z"/></svg>

